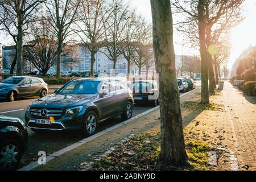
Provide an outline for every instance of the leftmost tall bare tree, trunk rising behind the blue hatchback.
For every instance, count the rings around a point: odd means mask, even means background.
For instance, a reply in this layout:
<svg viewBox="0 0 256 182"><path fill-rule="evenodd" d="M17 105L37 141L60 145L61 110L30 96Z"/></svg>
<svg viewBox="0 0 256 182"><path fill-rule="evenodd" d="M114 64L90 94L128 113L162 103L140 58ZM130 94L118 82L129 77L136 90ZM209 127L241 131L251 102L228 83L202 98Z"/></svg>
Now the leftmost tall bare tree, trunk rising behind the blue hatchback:
<svg viewBox="0 0 256 182"><path fill-rule="evenodd" d="M0 1L2 13L0 13L1 23L5 30L13 37L16 44L16 56L12 67L16 62L16 75L22 75L22 52L23 36L27 34L28 26L34 22L36 8L46 0L5 0Z"/></svg>

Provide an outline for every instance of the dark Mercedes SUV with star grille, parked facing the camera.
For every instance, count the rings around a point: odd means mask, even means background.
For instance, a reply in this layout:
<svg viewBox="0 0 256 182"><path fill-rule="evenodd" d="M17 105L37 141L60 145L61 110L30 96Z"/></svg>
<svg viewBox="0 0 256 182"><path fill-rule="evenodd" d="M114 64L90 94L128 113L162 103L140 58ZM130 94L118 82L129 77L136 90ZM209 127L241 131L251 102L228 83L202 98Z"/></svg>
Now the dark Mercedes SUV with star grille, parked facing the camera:
<svg viewBox="0 0 256 182"><path fill-rule="evenodd" d="M32 102L26 110L26 125L32 131L82 129L93 135L98 123L133 114L133 95L118 78L76 78L54 94Z"/></svg>

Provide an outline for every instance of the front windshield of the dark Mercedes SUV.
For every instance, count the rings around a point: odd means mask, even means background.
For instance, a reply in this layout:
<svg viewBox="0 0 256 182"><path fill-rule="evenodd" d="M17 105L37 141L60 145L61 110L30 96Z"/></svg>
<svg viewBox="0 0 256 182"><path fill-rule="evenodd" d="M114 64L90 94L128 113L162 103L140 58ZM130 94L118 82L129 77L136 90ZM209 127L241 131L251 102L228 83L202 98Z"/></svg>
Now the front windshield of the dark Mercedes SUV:
<svg viewBox="0 0 256 182"><path fill-rule="evenodd" d="M100 81L75 80L65 85L59 94L96 94Z"/></svg>

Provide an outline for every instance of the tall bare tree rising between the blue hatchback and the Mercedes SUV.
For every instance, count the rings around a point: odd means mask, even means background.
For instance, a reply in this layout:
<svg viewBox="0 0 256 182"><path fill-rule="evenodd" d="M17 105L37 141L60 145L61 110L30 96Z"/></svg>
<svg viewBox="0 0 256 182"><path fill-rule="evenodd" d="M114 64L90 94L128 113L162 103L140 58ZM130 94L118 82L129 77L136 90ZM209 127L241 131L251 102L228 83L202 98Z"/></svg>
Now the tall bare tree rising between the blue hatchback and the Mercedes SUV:
<svg viewBox="0 0 256 182"><path fill-rule="evenodd" d="M61 52L63 52L65 40L74 33L71 25L77 20L76 13L80 0L48 0L45 5L48 16L44 18L51 24L52 32L58 40L56 78L60 78Z"/></svg>

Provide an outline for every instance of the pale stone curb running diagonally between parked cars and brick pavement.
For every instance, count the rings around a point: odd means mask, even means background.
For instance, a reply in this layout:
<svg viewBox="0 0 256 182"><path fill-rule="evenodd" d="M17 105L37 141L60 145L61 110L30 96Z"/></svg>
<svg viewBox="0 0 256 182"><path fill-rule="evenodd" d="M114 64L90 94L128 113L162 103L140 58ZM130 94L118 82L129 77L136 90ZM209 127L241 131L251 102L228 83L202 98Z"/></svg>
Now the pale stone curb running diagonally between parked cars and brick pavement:
<svg viewBox="0 0 256 182"><path fill-rule="evenodd" d="M188 93L191 93L191 92L193 92L193 91L195 91L195 90L197 90L197 89L199 89L199 88L196 88L196 89L194 89L194 90L191 90L191 91L189 91L189 92L187 92L187 93L181 95L180 98L183 97L183 96L186 96ZM104 134L106 134L106 133L108 133L108 132L110 132L110 131L112 131L112 130L114 130L114 129L117 129L118 127L121 127L121 126L123 126L123 125L126 125L127 123L129 123L129 122L131 122L131 121L134 121L135 119L140 118L140 117L142 117L143 115L146 115L146 114L148 114L148 113L150 113L151 111L154 111L154 110L156 110L156 109L159 109L159 106L156 106L156 107L154 107L154 108L152 108L152 109L150 109L150 110L144 111L144 113L135 115L135 117L133 117L133 118L130 118L130 119L126 120L126 121L123 121L123 122L121 122L121 123L119 123L119 124L117 124L117 125L115 125L115 126L112 126L112 127L108 128L108 129L106 129L106 130L101 131L100 133L94 134L94 135L92 135L92 136L90 136L90 137L88 137L88 138L84 138L84 139L80 140L79 142L73 143L73 144L71 144L70 146L67 146L67 147L65 147L65 148L63 148L63 149L61 149L61 150L59 150L59 151L57 151L57 152L54 152L53 154L50 154L50 155L48 155L48 156L46 157L46 163L48 163L48 162L49 162L50 160L52 160L52 159L55 159L55 158L59 157L60 155L65 154L65 153L68 152L68 151L73 150L73 149L76 148L76 147L81 146L82 144L85 144L85 143L89 142L90 140L96 139L96 138L100 137L101 135L104 135ZM41 166L41 164L38 164L38 162L33 162L33 163L31 163L31 164L28 164L27 166L24 166L24 167L18 169L18 171L30 171L30 170L32 170L32 169L38 167L38 166Z"/></svg>

